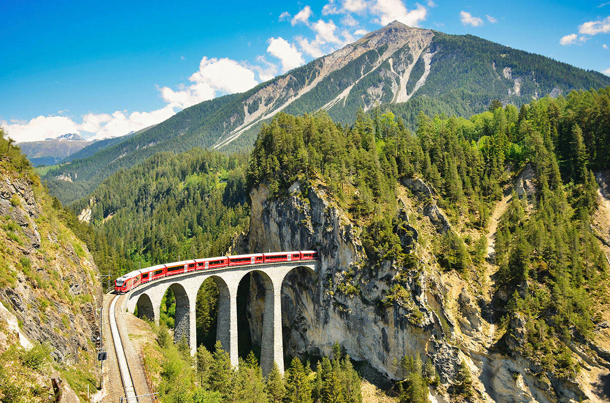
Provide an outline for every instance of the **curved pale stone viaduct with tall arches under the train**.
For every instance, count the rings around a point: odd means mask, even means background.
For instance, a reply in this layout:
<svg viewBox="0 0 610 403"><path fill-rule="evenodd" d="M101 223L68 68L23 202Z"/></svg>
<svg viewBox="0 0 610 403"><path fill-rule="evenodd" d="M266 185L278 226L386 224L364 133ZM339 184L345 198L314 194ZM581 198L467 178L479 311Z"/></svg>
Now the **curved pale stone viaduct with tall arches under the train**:
<svg viewBox="0 0 610 403"><path fill-rule="evenodd" d="M186 337L191 354L196 350L195 301L199 287L212 278L218 287L218 320L216 338L223 349L229 352L231 363L237 366L237 287L246 273L257 272L265 286L265 308L263 312L263 334L260 346L260 367L266 375L278 363L284 373L284 346L282 345L282 282L296 268L317 272L317 261L295 261L247 266L223 267L196 270L147 282L127 292L128 312L138 308L140 317L146 315L159 323L161 300L171 288L176 296L174 340Z"/></svg>

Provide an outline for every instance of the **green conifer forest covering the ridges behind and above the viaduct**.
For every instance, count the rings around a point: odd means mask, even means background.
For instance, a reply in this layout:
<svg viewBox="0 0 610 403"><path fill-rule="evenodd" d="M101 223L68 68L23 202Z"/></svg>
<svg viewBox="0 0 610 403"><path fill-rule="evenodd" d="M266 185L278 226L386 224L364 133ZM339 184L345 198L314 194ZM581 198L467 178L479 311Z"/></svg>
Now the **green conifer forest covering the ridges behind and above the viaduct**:
<svg viewBox="0 0 610 403"><path fill-rule="evenodd" d="M115 173L76 203L78 211L91 208L92 214L91 225L74 226L88 234L94 253L110 253L109 266L118 276L137 264L225 253L235 235L248 229L248 192L265 184L270 198L283 198L298 180L303 192L308 184L324 186L357 223L366 265L390 260L404 270L425 270L398 236L398 192L406 178L422 178L452 225L427 248L447 272L481 282L490 211L530 164L533 198L514 194L498 224L495 348L528 358L540 366L540 376L572 379L580 368L568 344L590 337L610 303L607 258L590 227L597 206L592 171L610 166L610 88L544 97L520 108L495 101L470 119L420 113L414 133L391 111L381 112L359 111L351 125L325 112L279 113L262 125L249 157L202 149L160 153ZM213 288L202 287L198 295L198 340L214 326ZM381 303L403 293L399 276ZM167 298L162 326L171 328L173 301ZM523 340L517 337L521 328L527 330ZM411 379L397 385L404 401L425 401L422 391L436 382L416 361L401 363ZM256 365L245 368L258 377ZM468 398L467 368L460 376L452 393ZM205 393L219 391L194 375L193 382Z"/></svg>

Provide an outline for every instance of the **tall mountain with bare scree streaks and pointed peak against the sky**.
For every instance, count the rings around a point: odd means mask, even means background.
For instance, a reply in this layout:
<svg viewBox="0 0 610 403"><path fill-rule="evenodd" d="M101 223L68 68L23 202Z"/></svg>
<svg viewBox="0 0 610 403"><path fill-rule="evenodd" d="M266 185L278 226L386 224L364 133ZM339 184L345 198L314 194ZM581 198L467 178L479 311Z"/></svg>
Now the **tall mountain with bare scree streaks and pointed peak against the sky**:
<svg viewBox="0 0 610 403"><path fill-rule="evenodd" d="M158 152L213 147L248 150L262 122L279 111L328 111L350 123L359 109L392 110L415 128L419 111L468 117L491 100L533 99L601 88L610 77L472 35L447 35L393 22L332 54L240 94L186 108L155 127L108 142L45 179L63 203L85 197L121 168Z"/></svg>

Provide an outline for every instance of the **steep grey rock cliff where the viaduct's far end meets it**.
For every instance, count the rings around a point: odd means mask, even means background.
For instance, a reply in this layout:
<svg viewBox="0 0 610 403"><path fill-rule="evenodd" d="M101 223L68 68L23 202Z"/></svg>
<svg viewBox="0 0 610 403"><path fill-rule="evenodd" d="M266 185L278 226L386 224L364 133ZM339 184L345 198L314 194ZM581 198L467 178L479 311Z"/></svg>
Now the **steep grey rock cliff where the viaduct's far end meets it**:
<svg viewBox="0 0 610 403"><path fill-rule="evenodd" d="M419 263L414 270L392 261L368 264L361 228L350 222L323 186L301 189L295 183L281 200L270 200L265 186L253 189L248 234L252 253L315 249L321 254L317 276L296 269L284 281L285 354L329 354L337 341L354 360L368 362L392 379L400 377L396 361L419 355L434 363L442 380L431 394L437 402L455 399L451 385L462 361L472 373L474 401L596 401L601 395L589 393L597 379L595 371L610 367L597 354L587 356L589 364L578 379L559 380L541 374L518 354L495 350L493 312L480 284L440 271L429 251L432 237L452 230L434 203L434 189L417 180L399 190L401 241L415 250ZM251 290L255 289L253 284ZM249 310L250 318L260 316L256 303ZM255 343L260 340L257 326L251 320ZM519 329L518 324L513 328ZM520 342L519 334L512 342Z"/></svg>

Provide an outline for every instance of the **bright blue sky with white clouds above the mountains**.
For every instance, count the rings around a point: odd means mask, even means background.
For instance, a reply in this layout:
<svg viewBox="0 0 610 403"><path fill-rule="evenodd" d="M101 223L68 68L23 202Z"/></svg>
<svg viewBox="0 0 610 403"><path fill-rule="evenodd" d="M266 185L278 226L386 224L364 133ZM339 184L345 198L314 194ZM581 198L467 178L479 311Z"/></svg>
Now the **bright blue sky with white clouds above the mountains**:
<svg viewBox="0 0 610 403"><path fill-rule="evenodd" d="M10 136L124 135L394 19L610 75L610 0L127 3L0 0L0 124Z"/></svg>

